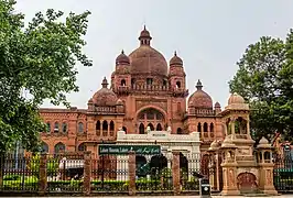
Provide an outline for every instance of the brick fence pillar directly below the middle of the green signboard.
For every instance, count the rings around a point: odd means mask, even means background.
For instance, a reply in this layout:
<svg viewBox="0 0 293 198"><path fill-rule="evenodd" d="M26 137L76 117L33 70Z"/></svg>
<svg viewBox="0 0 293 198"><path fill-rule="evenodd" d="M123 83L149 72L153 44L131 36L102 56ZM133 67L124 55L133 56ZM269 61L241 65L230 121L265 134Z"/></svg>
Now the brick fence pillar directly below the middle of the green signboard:
<svg viewBox="0 0 293 198"><path fill-rule="evenodd" d="M137 162L135 162L135 153L129 152L129 161L128 161L128 176L129 176L129 196L134 196L137 193L135 189L135 172L137 172Z"/></svg>

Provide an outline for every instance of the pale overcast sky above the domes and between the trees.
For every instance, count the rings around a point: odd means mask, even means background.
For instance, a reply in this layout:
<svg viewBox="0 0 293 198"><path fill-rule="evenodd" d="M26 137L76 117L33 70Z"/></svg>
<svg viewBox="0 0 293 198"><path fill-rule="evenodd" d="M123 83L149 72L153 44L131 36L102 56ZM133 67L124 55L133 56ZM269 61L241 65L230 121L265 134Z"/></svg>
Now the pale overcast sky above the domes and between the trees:
<svg viewBox="0 0 293 198"><path fill-rule="evenodd" d="M174 51L183 58L189 95L200 79L214 103L223 107L246 47L262 35L284 38L293 28L292 0L18 0L17 6L26 21L50 8L91 12L85 52L94 67L78 67L80 91L68 96L78 108L87 107L104 76L110 79L121 50L130 54L139 46L143 24L167 62Z"/></svg>

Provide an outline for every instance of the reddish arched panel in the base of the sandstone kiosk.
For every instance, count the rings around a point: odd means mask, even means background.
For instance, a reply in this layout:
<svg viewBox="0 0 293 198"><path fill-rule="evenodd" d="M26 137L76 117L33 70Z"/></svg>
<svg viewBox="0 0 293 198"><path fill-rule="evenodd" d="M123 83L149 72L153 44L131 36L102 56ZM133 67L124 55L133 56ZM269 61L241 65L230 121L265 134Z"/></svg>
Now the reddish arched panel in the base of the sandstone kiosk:
<svg viewBox="0 0 293 198"><path fill-rule="evenodd" d="M258 189L257 177L252 173L240 173L237 176L237 186L240 193L253 193Z"/></svg>

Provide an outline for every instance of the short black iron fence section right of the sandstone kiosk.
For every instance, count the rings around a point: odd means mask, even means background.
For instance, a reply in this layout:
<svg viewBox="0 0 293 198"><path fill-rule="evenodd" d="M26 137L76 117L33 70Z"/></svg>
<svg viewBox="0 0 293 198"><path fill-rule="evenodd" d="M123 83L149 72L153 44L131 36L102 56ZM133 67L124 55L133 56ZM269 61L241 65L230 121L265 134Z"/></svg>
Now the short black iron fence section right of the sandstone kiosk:
<svg viewBox="0 0 293 198"><path fill-rule="evenodd" d="M274 158L273 183L278 191L293 193L292 156L276 156Z"/></svg>

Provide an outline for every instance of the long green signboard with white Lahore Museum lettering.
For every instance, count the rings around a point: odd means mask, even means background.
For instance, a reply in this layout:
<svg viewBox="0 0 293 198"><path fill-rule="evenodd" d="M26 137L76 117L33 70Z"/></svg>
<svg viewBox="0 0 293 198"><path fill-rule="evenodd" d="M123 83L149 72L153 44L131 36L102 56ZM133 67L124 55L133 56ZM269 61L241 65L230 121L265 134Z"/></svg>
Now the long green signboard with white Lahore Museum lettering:
<svg viewBox="0 0 293 198"><path fill-rule="evenodd" d="M160 145L116 145L102 144L99 145L99 154L106 155L127 155L130 151L135 152L138 155L159 155L161 154Z"/></svg>

